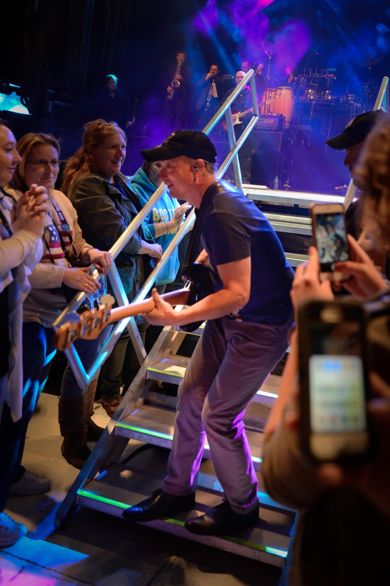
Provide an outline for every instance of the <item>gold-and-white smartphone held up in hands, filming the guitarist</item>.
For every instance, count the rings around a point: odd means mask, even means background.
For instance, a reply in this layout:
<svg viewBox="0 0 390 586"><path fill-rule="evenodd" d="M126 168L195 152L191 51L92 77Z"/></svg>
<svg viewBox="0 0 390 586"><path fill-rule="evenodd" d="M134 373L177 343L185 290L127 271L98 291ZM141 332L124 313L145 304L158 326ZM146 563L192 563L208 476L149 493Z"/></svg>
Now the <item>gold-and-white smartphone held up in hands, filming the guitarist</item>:
<svg viewBox="0 0 390 586"><path fill-rule="evenodd" d="M320 257L320 280L345 281L350 275L334 270L334 264L350 257L341 203L312 203L310 214L313 224L313 241Z"/></svg>

